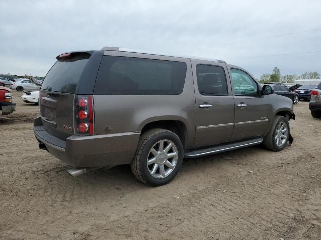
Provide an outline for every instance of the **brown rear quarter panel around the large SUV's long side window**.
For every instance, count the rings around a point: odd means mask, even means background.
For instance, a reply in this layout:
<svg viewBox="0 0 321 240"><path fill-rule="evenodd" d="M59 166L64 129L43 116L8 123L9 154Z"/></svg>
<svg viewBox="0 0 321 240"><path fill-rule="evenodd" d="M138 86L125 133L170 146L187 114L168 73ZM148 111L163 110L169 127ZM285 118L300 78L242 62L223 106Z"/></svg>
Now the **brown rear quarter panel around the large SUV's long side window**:
<svg viewBox="0 0 321 240"><path fill-rule="evenodd" d="M140 132L154 121L178 120L187 129L186 147L192 147L195 135L195 93L191 61L185 58L108 52L108 55L185 62L187 73L180 95L94 95L95 134Z"/></svg>

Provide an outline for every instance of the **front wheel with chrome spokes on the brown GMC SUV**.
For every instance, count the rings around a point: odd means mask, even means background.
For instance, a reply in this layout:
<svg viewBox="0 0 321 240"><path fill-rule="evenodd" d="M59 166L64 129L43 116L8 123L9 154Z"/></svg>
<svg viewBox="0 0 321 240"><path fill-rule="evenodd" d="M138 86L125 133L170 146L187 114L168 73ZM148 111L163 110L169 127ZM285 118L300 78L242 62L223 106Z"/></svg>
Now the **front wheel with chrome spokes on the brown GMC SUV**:
<svg viewBox="0 0 321 240"><path fill-rule="evenodd" d="M281 151L290 136L290 125L284 116L275 116L271 129L264 138L263 145L271 151Z"/></svg>

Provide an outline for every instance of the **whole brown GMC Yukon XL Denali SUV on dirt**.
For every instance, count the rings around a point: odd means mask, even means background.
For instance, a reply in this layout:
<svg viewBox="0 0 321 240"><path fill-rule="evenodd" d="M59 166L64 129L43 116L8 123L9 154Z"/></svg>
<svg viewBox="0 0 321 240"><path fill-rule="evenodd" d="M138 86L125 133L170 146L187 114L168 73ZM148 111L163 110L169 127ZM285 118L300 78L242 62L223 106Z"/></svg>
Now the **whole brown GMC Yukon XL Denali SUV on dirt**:
<svg viewBox="0 0 321 240"><path fill-rule="evenodd" d="M292 101L225 61L117 47L56 59L34 133L74 176L130 164L141 182L159 186L184 157L261 143L280 151L291 140Z"/></svg>

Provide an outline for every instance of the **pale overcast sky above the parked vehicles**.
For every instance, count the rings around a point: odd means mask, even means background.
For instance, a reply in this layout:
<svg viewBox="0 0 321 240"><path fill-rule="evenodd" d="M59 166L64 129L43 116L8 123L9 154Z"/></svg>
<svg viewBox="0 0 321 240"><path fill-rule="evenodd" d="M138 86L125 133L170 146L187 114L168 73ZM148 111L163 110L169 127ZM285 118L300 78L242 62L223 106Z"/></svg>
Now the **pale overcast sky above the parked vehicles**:
<svg viewBox="0 0 321 240"><path fill-rule="evenodd" d="M226 60L255 77L274 66L321 73L320 0L0 0L0 9L0 73L42 76L60 53L103 46Z"/></svg>

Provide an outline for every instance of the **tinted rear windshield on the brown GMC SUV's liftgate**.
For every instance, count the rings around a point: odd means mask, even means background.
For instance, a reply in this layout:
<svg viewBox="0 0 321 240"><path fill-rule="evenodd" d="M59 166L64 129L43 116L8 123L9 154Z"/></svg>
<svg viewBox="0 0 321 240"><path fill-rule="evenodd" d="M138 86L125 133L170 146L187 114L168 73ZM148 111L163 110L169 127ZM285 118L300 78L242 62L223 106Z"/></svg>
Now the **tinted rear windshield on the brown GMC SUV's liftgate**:
<svg viewBox="0 0 321 240"><path fill-rule="evenodd" d="M41 89L65 93L76 92L76 87L90 54L74 54L66 59L59 59L47 73Z"/></svg>

